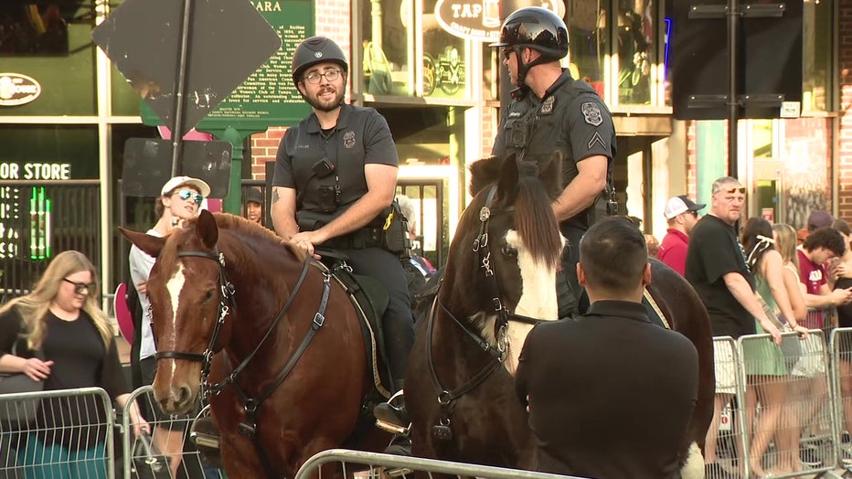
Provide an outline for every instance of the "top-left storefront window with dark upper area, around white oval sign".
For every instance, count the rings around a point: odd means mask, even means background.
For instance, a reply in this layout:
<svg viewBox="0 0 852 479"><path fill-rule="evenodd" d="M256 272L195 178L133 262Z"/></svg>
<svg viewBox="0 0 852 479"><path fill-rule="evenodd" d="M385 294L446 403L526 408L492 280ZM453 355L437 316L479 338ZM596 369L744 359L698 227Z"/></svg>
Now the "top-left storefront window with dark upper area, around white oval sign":
<svg viewBox="0 0 852 479"><path fill-rule="evenodd" d="M93 11L91 1L0 2L0 70L41 87L35 100L0 113L96 114Z"/></svg>

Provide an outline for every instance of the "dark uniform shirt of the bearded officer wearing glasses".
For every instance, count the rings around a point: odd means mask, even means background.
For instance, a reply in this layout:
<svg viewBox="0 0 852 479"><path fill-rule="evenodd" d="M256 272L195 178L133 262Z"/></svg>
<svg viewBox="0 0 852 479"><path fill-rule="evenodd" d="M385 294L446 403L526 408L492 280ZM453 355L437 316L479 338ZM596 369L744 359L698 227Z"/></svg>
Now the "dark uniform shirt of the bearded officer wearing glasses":
<svg viewBox="0 0 852 479"><path fill-rule="evenodd" d="M314 165L323 160L335 171L319 177ZM335 209L343 210L367 194L366 164L399 165L388 122L373 108L345 104L329 133L320 129L315 113L284 133L272 186L294 188L298 210L324 211L324 198L317 192L335 192Z"/></svg>

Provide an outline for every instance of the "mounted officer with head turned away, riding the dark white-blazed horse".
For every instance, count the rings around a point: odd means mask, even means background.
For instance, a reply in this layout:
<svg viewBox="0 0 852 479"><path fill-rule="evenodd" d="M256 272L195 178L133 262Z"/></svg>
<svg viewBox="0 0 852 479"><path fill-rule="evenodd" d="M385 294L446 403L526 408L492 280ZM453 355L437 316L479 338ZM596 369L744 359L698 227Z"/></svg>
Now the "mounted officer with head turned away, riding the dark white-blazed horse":
<svg viewBox="0 0 852 479"><path fill-rule="evenodd" d="M546 8L520 8L506 18L500 41L503 63L513 84L492 154L517 154L522 165L562 154L562 190L553 202L559 229L569 240L558 276L559 317L578 313L576 265L582 234L597 218L615 214L612 114L591 86L572 79L559 60L568 55L568 28ZM529 168L527 168L528 170ZM522 168L523 171L523 168Z"/></svg>

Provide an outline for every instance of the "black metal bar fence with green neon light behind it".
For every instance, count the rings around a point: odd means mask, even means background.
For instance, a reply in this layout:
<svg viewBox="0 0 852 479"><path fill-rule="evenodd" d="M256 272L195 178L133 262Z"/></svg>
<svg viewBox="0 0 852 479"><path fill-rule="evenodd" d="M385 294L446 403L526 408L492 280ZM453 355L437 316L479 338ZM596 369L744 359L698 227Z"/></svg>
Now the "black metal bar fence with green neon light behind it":
<svg viewBox="0 0 852 479"><path fill-rule="evenodd" d="M0 181L0 303L26 294L65 250L101 264L98 180Z"/></svg>

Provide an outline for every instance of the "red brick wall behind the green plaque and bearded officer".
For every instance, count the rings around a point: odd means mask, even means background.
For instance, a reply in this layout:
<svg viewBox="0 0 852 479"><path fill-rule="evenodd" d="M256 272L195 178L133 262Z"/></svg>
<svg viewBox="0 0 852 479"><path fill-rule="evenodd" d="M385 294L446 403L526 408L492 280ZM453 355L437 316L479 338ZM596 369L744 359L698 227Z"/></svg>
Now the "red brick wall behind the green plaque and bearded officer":
<svg viewBox="0 0 852 479"><path fill-rule="evenodd" d="M352 3L346 0L315 0L316 35L335 40L349 58L352 29L349 19L352 16ZM266 179L266 162L273 161L278 152L278 144L287 129L272 126L264 133L251 135L251 178Z"/></svg>

